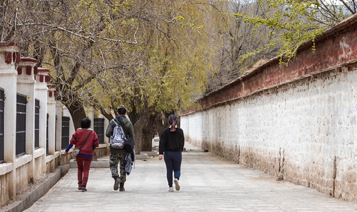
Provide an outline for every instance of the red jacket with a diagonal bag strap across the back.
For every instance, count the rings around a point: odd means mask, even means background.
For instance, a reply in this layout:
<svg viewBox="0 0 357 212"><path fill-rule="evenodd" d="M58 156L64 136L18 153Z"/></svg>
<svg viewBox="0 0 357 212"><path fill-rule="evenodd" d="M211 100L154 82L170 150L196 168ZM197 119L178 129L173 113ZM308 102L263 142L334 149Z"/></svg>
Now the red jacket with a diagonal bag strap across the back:
<svg viewBox="0 0 357 212"><path fill-rule="evenodd" d="M88 137L90 131L92 131L92 134L90 134L90 136ZM86 140L87 137L88 139L86 143L81 148L83 142ZM79 153L83 153L86 155L93 155L94 149L99 146L98 136L95 131L91 129L77 129L74 132L70 143L77 148L81 148L81 151L79 151Z"/></svg>

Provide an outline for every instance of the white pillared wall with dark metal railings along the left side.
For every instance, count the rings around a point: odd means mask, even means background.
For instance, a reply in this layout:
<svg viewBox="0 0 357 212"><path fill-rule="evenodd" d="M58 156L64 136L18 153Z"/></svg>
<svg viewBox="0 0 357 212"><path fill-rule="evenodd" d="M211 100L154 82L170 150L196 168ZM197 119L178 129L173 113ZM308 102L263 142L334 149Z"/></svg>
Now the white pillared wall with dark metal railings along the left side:
<svg viewBox="0 0 357 212"><path fill-rule="evenodd" d="M0 141L4 141L0 142L0 207L16 201L31 183L47 178L57 167L69 167L72 159L71 154L64 156L62 148L62 116L70 117L68 143L75 131L74 124L69 111L55 98L57 86L47 84L50 80L49 69L35 66L37 60L21 57L19 50L16 43L0 42L0 88L4 90L5 97L4 100L1 98L4 107L1 105L0 110ZM25 110L21 112L17 111L17 93L25 95L26 103L21 106ZM38 110L36 101L39 102ZM88 117L93 124L98 114L94 115L92 108L88 110L91 111ZM25 114L25 124L23 117L18 119L18 114ZM105 120L104 129L108 123ZM18 127L21 124L25 125L25 130ZM25 137L19 139L21 142L16 139L18 131ZM16 145L25 149L16 152ZM107 155L107 150L108 139L105 137L95 155ZM69 153L71 151L73 148ZM62 167L59 168L61 172L64 170Z"/></svg>

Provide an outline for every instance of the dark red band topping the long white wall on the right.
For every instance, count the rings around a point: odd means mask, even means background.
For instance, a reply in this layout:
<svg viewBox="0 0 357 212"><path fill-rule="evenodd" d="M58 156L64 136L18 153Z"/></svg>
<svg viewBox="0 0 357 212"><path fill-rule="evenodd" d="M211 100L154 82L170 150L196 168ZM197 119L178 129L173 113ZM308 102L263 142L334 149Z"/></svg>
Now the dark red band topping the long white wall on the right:
<svg viewBox="0 0 357 212"><path fill-rule="evenodd" d="M312 41L300 45L295 58L288 66L279 64L279 57L267 61L234 81L207 93L197 100L199 107L182 111L185 116L211 107L247 97L254 93L279 87L286 83L314 76L317 73L338 69L353 71L357 61L357 14L346 18L333 28L315 38L315 52L310 50Z"/></svg>

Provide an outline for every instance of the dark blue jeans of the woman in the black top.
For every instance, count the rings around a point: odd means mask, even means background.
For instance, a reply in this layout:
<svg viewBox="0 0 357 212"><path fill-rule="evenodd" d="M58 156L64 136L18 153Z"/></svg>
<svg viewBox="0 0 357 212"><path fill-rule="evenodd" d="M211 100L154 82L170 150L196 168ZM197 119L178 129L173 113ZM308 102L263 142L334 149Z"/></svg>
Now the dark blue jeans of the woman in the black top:
<svg viewBox="0 0 357 212"><path fill-rule="evenodd" d="M168 178L168 186L172 187L172 171L175 179L180 179L182 152L165 151L163 159L166 164L166 177Z"/></svg>

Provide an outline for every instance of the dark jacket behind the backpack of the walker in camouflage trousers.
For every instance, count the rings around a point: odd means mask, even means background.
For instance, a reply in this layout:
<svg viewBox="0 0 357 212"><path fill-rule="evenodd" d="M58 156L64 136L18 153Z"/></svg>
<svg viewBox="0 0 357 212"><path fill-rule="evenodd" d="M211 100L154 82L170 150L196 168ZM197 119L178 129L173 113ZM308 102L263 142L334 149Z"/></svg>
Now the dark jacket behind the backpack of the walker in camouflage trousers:
<svg viewBox="0 0 357 212"><path fill-rule="evenodd" d="M119 119L119 123L122 126L122 129L124 130L126 136L129 136L130 138L132 138L133 142L135 144L135 136L134 136L134 126L133 126L133 124L124 115L119 115L119 116L117 116L116 119ZM116 126L116 124L115 124L114 119L110 120L109 125L107 126L107 131L105 131L105 136L110 138L110 136L112 136L112 134L113 134L115 126ZM110 151L112 153L127 153L124 150L124 148L117 149L117 148L110 147Z"/></svg>

